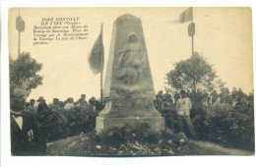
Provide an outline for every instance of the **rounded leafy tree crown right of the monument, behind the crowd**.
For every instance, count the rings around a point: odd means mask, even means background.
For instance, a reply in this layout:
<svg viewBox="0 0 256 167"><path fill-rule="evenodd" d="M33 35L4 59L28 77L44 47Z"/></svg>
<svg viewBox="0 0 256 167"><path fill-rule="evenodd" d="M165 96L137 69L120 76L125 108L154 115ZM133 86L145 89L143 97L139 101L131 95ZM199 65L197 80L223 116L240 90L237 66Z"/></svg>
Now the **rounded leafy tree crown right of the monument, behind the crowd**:
<svg viewBox="0 0 256 167"><path fill-rule="evenodd" d="M197 52L189 59L175 63L174 70L166 74L167 84L178 90L196 90L200 84L209 91L213 91L217 84L224 84L221 80L216 80L217 78L213 66Z"/></svg>

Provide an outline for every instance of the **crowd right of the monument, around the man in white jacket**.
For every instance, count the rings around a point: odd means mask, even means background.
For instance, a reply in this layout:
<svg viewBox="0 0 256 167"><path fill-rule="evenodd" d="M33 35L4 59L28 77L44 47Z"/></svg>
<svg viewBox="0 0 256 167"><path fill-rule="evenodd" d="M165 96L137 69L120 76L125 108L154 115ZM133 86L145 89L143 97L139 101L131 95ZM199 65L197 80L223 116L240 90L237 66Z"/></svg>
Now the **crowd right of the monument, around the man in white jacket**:
<svg viewBox="0 0 256 167"><path fill-rule="evenodd" d="M168 91L163 93L160 90L156 95L155 106L164 118L165 128L182 132L192 139L196 139L196 130L193 124L205 121L207 107L210 104L230 104L234 106L234 109L245 105L243 94L241 91L240 94L239 91L237 92L229 94L229 92L218 93L214 90L212 93L208 93L206 90L197 89L196 91L175 91L171 94Z"/></svg>

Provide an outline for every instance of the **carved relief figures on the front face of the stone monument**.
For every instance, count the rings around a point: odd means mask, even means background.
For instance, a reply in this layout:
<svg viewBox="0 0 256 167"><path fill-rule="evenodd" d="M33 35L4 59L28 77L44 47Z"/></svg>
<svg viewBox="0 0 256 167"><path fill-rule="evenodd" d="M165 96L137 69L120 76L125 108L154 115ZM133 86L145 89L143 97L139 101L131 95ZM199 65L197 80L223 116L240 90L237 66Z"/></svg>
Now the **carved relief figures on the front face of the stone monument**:
<svg viewBox="0 0 256 167"><path fill-rule="evenodd" d="M117 56L117 70L119 70L117 80L128 85L137 83L144 72L146 56L135 31L128 33L128 43L118 52Z"/></svg>

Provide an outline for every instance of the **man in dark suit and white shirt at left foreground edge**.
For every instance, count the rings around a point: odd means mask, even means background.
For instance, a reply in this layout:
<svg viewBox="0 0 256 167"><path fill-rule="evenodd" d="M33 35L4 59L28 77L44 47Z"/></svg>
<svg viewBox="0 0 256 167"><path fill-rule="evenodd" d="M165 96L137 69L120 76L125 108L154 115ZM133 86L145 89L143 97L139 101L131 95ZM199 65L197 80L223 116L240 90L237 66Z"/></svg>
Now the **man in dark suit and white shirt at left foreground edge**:
<svg viewBox="0 0 256 167"><path fill-rule="evenodd" d="M37 121L25 110L25 91L21 86L10 88L12 155L46 155L46 142Z"/></svg>

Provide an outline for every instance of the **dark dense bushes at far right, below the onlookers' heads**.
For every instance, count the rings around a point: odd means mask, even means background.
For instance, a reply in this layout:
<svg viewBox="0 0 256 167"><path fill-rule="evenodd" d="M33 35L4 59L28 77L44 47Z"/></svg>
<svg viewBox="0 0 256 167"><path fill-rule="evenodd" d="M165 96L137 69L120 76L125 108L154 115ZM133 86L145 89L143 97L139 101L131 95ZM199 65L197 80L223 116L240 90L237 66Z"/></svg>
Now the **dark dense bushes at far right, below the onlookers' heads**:
<svg viewBox="0 0 256 167"><path fill-rule="evenodd" d="M207 114L203 139L254 151L253 100L236 108L230 104L212 104Z"/></svg>

